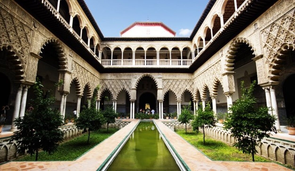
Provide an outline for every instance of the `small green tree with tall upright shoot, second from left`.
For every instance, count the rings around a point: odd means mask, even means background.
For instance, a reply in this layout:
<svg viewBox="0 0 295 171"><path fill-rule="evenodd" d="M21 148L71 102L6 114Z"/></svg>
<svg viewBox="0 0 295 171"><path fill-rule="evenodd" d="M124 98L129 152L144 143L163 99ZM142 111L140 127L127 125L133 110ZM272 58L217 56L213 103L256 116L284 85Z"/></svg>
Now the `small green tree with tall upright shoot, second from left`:
<svg viewBox="0 0 295 171"><path fill-rule="evenodd" d="M96 110L96 97L99 87L96 87L93 91L93 96L90 101L90 107L83 106L82 112L79 117L75 120L75 125L78 129L88 129L88 141L90 138L90 131L95 131L101 128L105 123L104 116L100 110Z"/></svg>

